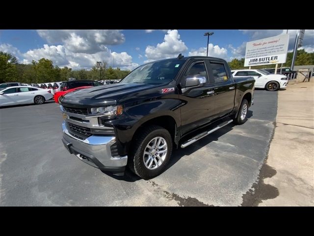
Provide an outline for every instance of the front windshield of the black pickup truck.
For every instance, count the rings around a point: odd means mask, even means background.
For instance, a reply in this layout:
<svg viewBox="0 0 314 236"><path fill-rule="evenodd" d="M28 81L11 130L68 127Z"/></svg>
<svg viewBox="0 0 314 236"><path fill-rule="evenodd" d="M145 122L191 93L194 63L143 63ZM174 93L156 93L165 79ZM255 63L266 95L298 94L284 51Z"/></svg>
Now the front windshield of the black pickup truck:
<svg viewBox="0 0 314 236"><path fill-rule="evenodd" d="M141 65L119 83L163 84L172 81L185 60L162 60Z"/></svg>

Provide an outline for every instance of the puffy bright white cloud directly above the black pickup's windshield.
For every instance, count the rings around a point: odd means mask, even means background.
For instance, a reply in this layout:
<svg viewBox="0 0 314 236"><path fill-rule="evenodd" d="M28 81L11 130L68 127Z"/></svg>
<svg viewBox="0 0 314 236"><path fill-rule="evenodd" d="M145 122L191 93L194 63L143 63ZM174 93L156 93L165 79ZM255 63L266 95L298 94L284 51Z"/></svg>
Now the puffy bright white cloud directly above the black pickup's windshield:
<svg viewBox="0 0 314 236"><path fill-rule="evenodd" d="M186 50L187 47L180 39L178 30L169 29L167 34L165 34L164 41L162 43L158 43L156 47L150 45L146 47L145 56L148 59L146 61L174 58Z"/></svg>

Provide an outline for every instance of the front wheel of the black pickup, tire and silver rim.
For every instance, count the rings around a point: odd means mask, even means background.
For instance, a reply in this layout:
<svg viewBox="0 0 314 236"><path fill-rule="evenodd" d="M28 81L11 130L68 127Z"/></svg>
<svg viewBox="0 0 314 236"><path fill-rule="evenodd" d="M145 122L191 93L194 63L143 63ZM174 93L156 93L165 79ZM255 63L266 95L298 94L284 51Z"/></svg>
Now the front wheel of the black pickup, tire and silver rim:
<svg viewBox="0 0 314 236"><path fill-rule="evenodd" d="M157 141L157 144L155 144L157 148L153 146L155 140ZM157 146L159 140L160 150ZM166 146L162 147L165 144ZM148 146L153 149L148 148ZM157 125L149 126L143 129L134 139L129 156L129 168L143 179L156 177L164 171L171 152L172 138L168 130Z"/></svg>

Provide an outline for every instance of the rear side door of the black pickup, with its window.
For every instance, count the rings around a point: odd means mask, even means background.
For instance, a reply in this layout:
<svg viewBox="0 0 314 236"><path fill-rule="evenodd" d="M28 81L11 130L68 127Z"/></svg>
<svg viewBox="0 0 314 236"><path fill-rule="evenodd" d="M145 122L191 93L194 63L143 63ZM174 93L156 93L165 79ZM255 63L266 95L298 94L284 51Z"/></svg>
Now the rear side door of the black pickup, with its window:
<svg viewBox="0 0 314 236"><path fill-rule="evenodd" d="M209 81L215 91L215 118L219 118L235 107L235 83L225 62L209 60L209 65Z"/></svg>

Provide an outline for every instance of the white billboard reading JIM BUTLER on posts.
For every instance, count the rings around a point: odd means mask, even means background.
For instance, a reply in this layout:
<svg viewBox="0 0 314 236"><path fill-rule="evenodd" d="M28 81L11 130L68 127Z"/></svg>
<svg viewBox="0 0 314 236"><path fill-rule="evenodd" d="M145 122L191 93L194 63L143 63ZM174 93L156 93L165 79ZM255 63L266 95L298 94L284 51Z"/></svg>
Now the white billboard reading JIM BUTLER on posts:
<svg viewBox="0 0 314 236"><path fill-rule="evenodd" d="M285 63L289 34L247 42L244 66Z"/></svg>

